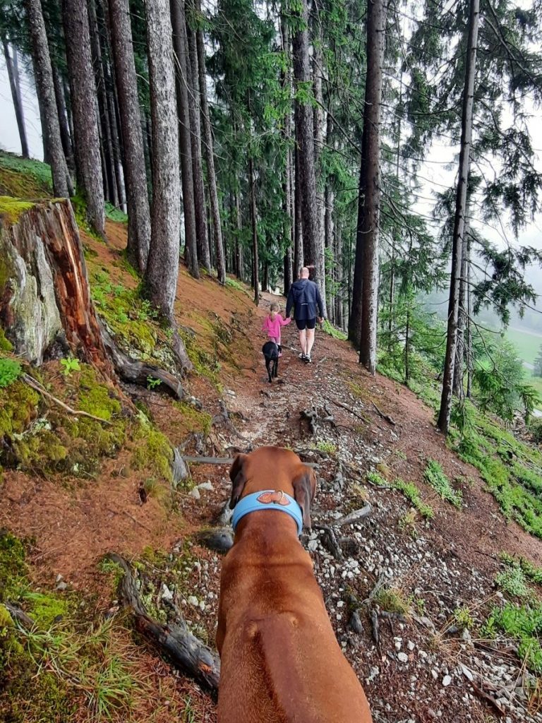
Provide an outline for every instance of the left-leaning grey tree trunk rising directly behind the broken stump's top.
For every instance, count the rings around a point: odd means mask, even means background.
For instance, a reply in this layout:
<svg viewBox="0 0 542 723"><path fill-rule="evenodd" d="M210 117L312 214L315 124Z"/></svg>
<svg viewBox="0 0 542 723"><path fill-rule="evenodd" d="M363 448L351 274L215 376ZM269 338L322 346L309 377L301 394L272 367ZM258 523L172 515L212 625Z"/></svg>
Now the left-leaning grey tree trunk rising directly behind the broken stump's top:
<svg viewBox="0 0 542 723"><path fill-rule="evenodd" d="M56 112L56 98L53 84L53 69L47 41L45 22L40 0L26 0L34 73L38 98L40 99L40 117L45 131L45 147L51 158L53 192L58 197L69 197L72 181L69 177L66 158L62 150L59 115ZM99 172L99 166L98 166Z"/></svg>

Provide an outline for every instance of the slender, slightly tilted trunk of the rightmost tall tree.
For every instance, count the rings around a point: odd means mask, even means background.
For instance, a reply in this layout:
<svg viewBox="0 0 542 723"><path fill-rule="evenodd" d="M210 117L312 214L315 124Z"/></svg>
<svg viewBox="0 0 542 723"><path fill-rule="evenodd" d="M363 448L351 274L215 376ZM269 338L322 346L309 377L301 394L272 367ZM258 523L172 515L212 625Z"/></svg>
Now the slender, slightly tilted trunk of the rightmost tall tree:
<svg viewBox="0 0 542 723"><path fill-rule="evenodd" d="M465 231L465 210L470 167L470 142L473 132L474 81L476 76L476 47L478 44L479 0L470 0L468 39L465 61L465 89L463 90L463 112L461 117L461 145L459 156L459 178L455 197L455 220L452 238L452 270L449 283L448 328L446 338L446 359L442 377L438 427L445 435L449 429L449 415L452 411L452 387L454 380L455 349L457 345L457 315L459 313L459 286Z"/></svg>

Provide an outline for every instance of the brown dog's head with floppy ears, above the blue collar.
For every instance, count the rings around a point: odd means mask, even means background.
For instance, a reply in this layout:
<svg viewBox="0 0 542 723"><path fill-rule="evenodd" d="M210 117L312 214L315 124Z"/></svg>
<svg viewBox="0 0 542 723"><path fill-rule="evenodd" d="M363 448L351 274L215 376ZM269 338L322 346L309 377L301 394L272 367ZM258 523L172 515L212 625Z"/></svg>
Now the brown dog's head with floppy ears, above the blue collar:
<svg viewBox="0 0 542 723"><path fill-rule="evenodd" d="M316 474L296 453L281 447L260 447L250 454L238 454L230 469L230 508L241 497L261 489L277 489L291 495L303 513L303 526L311 526L311 502L316 494Z"/></svg>

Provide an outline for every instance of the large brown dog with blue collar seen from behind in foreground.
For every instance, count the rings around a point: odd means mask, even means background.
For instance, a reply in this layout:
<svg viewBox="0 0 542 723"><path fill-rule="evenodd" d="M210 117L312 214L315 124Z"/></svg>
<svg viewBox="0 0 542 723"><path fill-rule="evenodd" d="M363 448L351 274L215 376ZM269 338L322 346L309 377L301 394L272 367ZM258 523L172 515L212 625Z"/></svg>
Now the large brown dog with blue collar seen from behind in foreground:
<svg viewBox="0 0 542 723"><path fill-rule="evenodd" d="M333 633L311 558L298 541L296 520L278 510L295 508L283 493L290 495L310 527L314 471L291 450L262 447L237 455L230 477L231 508L255 492L278 493L250 498L274 502L275 508L242 517L223 560L219 723L371 723L364 691Z"/></svg>

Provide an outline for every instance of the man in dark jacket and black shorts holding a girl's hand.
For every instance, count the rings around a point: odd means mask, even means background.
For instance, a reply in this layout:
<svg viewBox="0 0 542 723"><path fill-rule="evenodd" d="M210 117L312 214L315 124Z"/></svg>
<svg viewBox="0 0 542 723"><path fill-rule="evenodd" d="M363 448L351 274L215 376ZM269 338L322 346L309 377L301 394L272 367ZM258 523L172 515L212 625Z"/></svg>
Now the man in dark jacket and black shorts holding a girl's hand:
<svg viewBox="0 0 542 723"><path fill-rule="evenodd" d="M311 364L311 351L314 344L314 328L318 321L324 320L324 307L322 296L317 283L309 281L309 269L304 266L299 278L294 282L288 293L285 317L288 319L293 307L293 317L299 330L299 343L301 345L301 359Z"/></svg>

